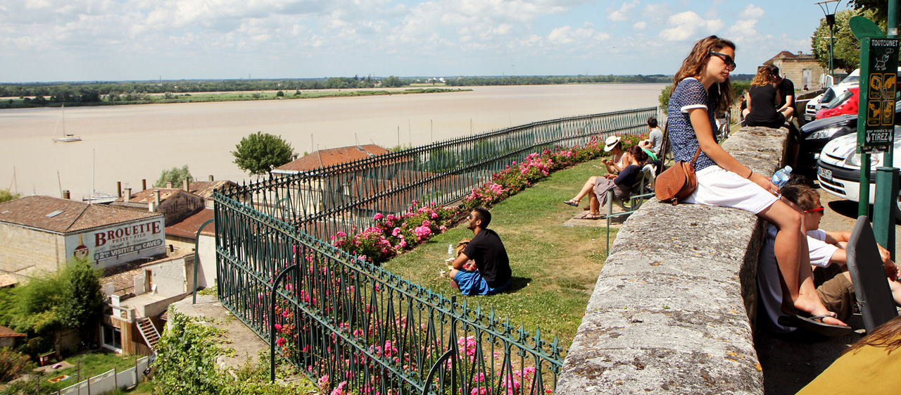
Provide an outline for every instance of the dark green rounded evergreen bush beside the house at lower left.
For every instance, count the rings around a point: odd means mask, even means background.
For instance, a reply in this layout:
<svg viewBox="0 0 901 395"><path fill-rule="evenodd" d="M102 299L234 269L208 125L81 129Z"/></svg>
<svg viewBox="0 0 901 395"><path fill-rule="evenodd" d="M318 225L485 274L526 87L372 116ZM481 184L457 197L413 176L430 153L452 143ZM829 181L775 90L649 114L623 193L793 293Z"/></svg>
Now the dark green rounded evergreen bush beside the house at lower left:
<svg viewBox="0 0 901 395"><path fill-rule="evenodd" d="M63 326L81 331L83 335L91 334L91 328L96 326L103 314L104 294L100 289L99 273L89 262L69 263L63 271L62 283L59 321Z"/></svg>

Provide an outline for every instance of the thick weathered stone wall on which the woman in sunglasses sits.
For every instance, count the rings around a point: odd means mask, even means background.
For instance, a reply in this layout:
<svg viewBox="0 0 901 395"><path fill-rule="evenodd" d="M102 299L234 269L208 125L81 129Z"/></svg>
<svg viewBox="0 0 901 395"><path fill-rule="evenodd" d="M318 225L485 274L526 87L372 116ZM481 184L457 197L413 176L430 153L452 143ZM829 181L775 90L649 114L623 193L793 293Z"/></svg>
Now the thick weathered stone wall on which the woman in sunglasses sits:
<svg viewBox="0 0 901 395"><path fill-rule="evenodd" d="M748 127L723 147L771 175L786 139ZM644 204L617 234L555 393L762 394L751 333L762 237L750 212Z"/></svg>

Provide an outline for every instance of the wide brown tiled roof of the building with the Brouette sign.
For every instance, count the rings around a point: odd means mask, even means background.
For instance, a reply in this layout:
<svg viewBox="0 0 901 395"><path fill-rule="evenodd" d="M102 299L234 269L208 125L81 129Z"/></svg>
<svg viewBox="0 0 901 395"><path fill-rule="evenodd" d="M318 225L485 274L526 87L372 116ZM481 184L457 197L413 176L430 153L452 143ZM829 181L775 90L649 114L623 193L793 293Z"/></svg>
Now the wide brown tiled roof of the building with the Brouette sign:
<svg viewBox="0 0 901 395"><path fill-rule="evenodd" d="M30 196L0 203L0 222L68 234L99 226L162 216L122 207L89 205L75 200Z"/></svg>

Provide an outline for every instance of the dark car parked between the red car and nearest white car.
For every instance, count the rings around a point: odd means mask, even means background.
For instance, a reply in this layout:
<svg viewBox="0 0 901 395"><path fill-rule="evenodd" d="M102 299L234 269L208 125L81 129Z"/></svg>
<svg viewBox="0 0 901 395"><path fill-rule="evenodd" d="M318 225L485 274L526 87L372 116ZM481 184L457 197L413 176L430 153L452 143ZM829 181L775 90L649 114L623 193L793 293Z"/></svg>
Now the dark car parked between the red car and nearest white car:
<svg viewBox="0 0 901 395"><path fill-rule="evenodd" d="M901 124L901 101L895 101L895 123ZM857 114L817 119L801 127L801 147L796 168L813 171L827 142L845 134L857 135Z"/></svg>

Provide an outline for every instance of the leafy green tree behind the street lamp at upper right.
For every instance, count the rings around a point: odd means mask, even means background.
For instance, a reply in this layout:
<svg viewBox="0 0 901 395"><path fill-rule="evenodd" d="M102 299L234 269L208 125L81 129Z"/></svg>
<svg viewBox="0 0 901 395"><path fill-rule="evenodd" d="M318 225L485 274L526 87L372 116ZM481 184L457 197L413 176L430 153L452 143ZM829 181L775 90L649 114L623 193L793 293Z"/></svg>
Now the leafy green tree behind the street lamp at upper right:
<svg viewBox="0 0 901 395"><path fill-rule="evenodd" d="M835 14L835 24L833 25L834 47L833 47L833 68L843 69L850 72L860 66L860 40L854 37L851 32L852 16L860 15L869 20L875 20L875 12L872 10L843 10ZM879 27L885 31L886 23L883 18ZM829 26L826 20L820 20L820 26L814 31L811 37L810 46L814 49L814 56L817 62L824 69L829 69Z"/></svg>

